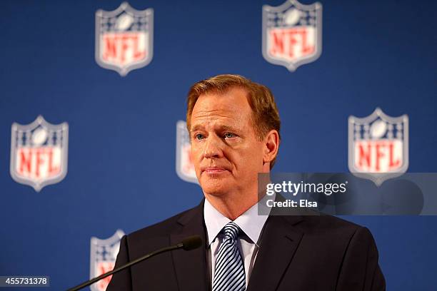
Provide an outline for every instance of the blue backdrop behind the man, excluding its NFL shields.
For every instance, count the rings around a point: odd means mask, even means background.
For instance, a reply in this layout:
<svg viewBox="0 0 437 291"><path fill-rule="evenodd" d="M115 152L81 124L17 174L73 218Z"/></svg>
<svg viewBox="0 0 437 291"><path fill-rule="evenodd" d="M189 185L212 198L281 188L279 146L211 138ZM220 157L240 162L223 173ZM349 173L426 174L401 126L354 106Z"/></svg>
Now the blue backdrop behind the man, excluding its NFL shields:
<svg viewBox="0 0 437 291"><path fill-rule="evenodd" d="M311 1L302 1L311 4ZM1 1L0 275L89 277L90 238L197 205L174 170L192 83L238 73L276 96L276 172L348 172L348 116L408 114L409 172L436 172L436 1L323 0L323 52L291 73L261 54L263 1L132 0L154 9L154 58L126 77L94 60L98 9L121 1ZM11 124L69 123L66 178L41 192L9 174ZM388 290L435 290L437 217L346 217L373 233ZM408 230L408 232L406 232Z"/></svg>

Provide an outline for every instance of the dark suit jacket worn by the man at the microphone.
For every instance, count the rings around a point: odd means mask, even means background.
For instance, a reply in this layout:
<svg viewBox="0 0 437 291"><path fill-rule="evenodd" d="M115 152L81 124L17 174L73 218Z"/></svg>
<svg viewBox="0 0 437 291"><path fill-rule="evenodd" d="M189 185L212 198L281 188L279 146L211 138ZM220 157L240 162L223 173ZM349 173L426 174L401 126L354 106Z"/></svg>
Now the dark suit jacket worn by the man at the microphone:
<svg viewBox="0 0 437 291"><path fill-rule="evenodd" d="M148 252L201 235L202 247L174 250L113 275L108 291L211 290L206 264L204 203L121 239L116 267ZM378 250L367 228L323 216L270 216L248 291L385 290Z"/></svg>

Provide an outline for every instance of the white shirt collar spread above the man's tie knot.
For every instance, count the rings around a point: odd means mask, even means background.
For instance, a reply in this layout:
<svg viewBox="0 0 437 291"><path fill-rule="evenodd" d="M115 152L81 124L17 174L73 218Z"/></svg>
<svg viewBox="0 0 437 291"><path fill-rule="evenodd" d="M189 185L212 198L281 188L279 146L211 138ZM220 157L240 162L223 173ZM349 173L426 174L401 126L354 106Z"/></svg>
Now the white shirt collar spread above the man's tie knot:
<svg viewBox="0 0 437 291"><path fill-rule="evenodd" d="M267 218L268 215L258 215L258 203L256 203L246 210L245 213L238 216L236 220L233 220L233 222L236 223L236 225L246 233L248 238L258 246L258 238L259 235L261 235L261 230L263 229ZM209 245L211 245L211 242L214 242L222 228L232 221L218 212L218 210L216 210L207 199L205 199L204 204L204 220L206 232L208 233Z"/></svg>

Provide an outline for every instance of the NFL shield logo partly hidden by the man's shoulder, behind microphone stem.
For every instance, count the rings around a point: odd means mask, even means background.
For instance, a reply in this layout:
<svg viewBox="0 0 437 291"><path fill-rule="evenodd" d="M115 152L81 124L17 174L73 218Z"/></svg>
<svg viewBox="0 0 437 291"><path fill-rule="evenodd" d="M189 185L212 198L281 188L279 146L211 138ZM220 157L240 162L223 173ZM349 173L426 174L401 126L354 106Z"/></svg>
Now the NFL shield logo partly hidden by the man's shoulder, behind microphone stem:
<svg viewBox="0 0 437 291"><path fill-rule="evenodd" d="M123 230L117 230L111 238L100 240L91 238L91 265L89 277L99 277L100 275L114 269L117 255L120 249L120 239L123 238ZM91 285L92 291L104 291L111 281L112 275L95 282Z"/></svg>

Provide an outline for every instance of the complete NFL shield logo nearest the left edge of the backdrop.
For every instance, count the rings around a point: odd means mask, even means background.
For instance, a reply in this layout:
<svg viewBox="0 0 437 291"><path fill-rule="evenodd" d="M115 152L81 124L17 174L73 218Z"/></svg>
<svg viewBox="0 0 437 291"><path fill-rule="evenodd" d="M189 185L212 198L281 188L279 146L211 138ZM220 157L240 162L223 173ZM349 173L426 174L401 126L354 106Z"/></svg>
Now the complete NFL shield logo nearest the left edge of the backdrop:
<svg viewBox="0 0 437 291"><path fill-rule="evenodd" d="M11 176L39 192L67 173L69 126L50 124L42 116L23 126L12 124Z"/></svg>

